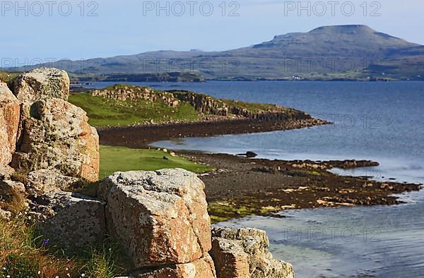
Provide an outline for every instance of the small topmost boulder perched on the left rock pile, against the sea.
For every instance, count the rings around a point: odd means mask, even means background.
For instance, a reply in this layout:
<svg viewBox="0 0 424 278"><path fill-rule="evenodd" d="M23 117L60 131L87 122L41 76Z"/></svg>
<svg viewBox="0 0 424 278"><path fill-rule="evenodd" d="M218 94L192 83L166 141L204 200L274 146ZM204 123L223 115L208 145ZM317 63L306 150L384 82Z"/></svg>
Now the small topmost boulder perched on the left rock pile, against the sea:
<svg viewBox="0 0 424 278"><path fill-rule="evenodd" d="M69 84L69 76L66 71L57 68L35 68L16 78L15 95L23 103L52 98L67 101Z"/></svg>

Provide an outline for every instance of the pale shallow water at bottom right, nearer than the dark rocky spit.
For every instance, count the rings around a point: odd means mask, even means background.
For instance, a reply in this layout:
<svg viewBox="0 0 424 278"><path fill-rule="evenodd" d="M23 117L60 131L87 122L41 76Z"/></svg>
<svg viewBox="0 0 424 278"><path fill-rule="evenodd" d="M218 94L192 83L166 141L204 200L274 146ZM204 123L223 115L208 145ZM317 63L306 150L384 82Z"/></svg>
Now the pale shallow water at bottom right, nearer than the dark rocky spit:
<svg viewBox="0 0 424 278"><path fill-rule="evenodd" d="M424 194L392 207L340 207L248 217L220 226L265 229L296 277L423 277Z"/></svg>

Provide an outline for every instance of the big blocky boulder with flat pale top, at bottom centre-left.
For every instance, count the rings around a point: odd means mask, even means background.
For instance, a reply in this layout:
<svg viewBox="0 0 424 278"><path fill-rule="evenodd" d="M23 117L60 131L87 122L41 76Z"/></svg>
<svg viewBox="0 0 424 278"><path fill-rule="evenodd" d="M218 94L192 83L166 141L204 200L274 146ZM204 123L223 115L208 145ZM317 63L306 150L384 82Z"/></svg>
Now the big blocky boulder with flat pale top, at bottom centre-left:
<svg viewBox="0 0 424 278"><path fill-rule="evenodd" d="M107 225L134 267L194 262L211 249L204 183L183 169L115 173L100 184Z"/></svg>

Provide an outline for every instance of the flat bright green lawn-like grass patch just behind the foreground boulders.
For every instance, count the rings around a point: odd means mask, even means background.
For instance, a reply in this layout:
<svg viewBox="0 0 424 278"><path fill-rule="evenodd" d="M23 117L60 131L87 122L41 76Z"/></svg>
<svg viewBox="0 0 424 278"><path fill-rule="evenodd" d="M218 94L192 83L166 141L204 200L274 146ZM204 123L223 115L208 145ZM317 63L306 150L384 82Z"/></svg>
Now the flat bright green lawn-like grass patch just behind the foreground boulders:
<svg viewBox="0 0 424 278"><path fill-rule="evenodd" d="M182 168L195 173L211 171L211 167L207 165L196 164L184 157L172 157L161 150L100 146L100 179L116 171L155 171L169 168Z"/></svg>

